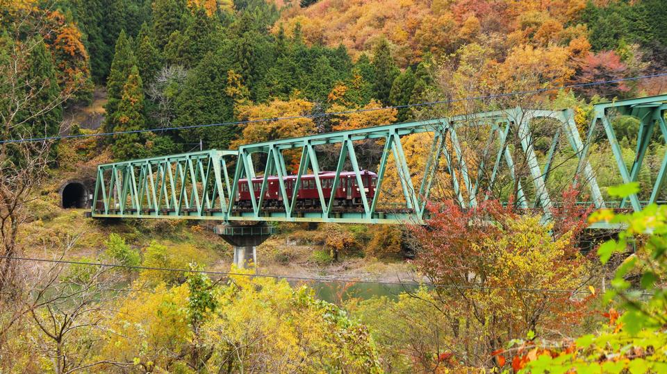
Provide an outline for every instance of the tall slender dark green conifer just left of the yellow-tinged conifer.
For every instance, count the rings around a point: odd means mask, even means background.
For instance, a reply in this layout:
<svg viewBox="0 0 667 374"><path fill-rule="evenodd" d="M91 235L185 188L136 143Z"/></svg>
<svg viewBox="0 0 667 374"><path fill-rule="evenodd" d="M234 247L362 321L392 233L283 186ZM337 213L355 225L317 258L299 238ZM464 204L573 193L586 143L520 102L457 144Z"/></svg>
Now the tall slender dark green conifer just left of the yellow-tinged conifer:
<svg viewBox="0 0 667 374"><path fill-rule="evenodd" d="M137 64L137 60L132 51L132 42L125 35L125 31L121 31L116 42L115 54L113 62L111 62L111 70L109 78L106 81L107 103L106 109L106 131L113 131L112 118L118 108L118 103L122 99L123 86L127 81L131 69Z"/></svg>

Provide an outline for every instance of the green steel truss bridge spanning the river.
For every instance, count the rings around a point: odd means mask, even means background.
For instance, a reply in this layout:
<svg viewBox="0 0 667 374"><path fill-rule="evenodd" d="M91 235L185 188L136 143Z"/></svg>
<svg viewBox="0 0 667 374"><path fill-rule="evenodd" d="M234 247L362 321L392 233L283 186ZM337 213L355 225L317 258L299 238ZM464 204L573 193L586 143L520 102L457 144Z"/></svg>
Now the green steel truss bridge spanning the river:
<svg viewBox="0 0 667 374"><path fill-rule="evenodd" d="M101 164L92 216L423 223L429 198L500 198L548 217L573 185L582 204L637 211L667 198L666 105L599 103L585 122L508 108ZM641 192L609 200L607 187L631 181Z"/></svg>

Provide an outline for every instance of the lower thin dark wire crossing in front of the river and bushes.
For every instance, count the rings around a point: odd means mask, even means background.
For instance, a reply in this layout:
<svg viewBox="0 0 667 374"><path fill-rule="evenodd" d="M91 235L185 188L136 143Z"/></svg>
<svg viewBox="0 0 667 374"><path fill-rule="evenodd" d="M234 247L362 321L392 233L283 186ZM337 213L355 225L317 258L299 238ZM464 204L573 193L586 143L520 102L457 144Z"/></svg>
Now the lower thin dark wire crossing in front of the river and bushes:
<svg viewBox="0 0 667 374"><path fill-rule="evenodd" d="M479 290L500 290L500 291L518 291L518 292L533 292L541 294L591 294L591 291L584 291L581 289L541 289L541 288L518 288L518 287L486 287L486 286L474 286L466 284L437 284L437 283L418 283L418 282L378 282L372 280L354 280L354 279L331 279L331 278L311 278L311 277L297 277L291 275L274 275L274 274L247 274L247 273L233 273L231 271L211 271L211 270L199 270L199 269L176 269L176 268L165 268L158 266L133 266L133 265L124 265L124 264L108 264L104 262L83 262L83 261L72 261L72 260L49 260L44 258L33 258L33 257L16 257L16 256L0 256L0 258L6 260L19 260L19 261L31 261L31 262L49 262L53 264L70 264L70 265L83 265L83 266L99 266L106 268L122 268L122 269L133 269L133 270L154 270L154 271L169 271L169 272L178 272L178 273L199 273L206 275L220 275L224 277L231 276L245 276L251 278L272 278L272 279L285 279L285 280L303 280L311 282L322 282L322 283L361 283L361 284L383 284L387 286L421 286L434 287L434 288L443 288L443 289L479 289ZM627 293L622 293L627 294ZM653 296L650 293L643 293L642 296Z"/></svg>

